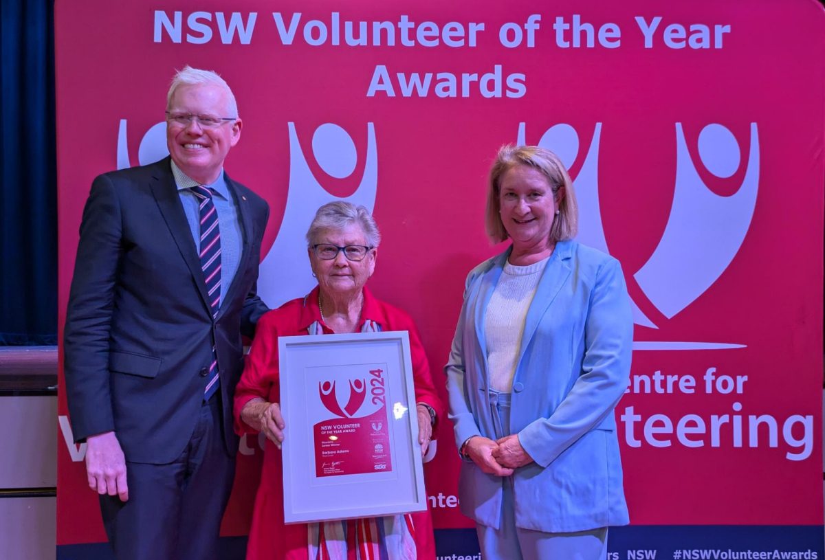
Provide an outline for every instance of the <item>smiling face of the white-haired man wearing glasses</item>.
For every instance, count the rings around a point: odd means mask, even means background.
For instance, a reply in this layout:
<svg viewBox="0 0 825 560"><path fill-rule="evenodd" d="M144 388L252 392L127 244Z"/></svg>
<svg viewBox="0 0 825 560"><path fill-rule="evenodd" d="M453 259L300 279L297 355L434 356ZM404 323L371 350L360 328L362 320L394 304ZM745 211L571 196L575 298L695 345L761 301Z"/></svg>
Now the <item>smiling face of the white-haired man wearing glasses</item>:
<svg viewBox="0 0 825 560"><path fill-rule="evenodd" d="M167 110L217 118L237 116L228 114L229 93L214 84L183 84L177 87ZM238 144L241 138L242 126L240 119L224 121L212 129L202 127L197 120L192 120L188 125L167 120L169 155L186 176L207 185L218 178L229 148Z"/></svg>

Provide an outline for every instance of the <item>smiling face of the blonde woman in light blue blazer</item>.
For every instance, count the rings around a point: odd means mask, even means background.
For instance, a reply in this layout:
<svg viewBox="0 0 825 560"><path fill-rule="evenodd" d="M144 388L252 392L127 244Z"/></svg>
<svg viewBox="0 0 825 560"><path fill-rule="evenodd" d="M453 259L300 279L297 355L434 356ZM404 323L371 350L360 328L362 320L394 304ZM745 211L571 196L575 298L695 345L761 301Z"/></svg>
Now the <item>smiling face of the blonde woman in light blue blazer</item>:
<svg viewBox="0 0 825 560"><path fill-rule="evenodd" d="M550 228L563 196L563 188L554 195L547 177L533 167L516 165L504 173L498 203L502 224L516 249L549 247Z"/></svg>

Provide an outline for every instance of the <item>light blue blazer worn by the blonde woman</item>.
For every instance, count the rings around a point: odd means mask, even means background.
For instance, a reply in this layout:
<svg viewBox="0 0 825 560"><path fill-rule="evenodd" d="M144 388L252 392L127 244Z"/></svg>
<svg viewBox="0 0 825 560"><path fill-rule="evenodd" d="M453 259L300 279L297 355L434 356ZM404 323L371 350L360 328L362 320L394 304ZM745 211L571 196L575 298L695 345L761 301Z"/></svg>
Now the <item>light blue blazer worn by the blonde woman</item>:
<svg viewBox="0 0 825 560"><path fill-rule="evenodd" d="M512 249L470 271L445 370L455 441L496 439L484 316ZM530 304L512 386L510 425L535 463L517 468L516 526L547 533L629 522L613 410L627 388L633 318L619 261L556 244ZM499 528L502 483L464 461L460 507Z"/></svg>

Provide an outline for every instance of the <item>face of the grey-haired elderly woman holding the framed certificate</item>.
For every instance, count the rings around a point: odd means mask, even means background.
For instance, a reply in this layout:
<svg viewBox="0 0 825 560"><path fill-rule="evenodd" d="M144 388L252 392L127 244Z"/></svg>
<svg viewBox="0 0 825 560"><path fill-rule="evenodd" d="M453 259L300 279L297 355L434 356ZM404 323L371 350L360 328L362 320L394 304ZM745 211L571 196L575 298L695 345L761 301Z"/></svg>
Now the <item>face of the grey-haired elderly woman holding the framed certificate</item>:
<svg viewBox="0 0 825 560"><path fill-rule="evenodd" d="M313 240L316 243L329 243L337 247L347 245L365 245L364 230L359 224L349 224L341 229L323 229ZM318 276L318 285L321 294L326 299L340 299L342 296L355 298L361 293L366 281L375 271L375 253L372 249L367 252L362 261L347 261L344 252L339 251L331 261L323 261L315 255L312 247L309 248L309 264L314 275Z"/></svg>

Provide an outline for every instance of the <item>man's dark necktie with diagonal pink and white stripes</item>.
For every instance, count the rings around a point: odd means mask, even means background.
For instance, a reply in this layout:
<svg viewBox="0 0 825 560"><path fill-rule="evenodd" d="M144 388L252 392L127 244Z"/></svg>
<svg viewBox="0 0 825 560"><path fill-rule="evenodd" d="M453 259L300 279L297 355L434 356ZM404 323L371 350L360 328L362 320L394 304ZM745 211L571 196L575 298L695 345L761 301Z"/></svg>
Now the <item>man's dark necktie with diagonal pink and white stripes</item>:
<svg viewBox="0 0 825 560"><path fill-rule="evenodd" d="M212 191L205 186L193 186L192 192L200 201L200 269L204 272L206 293L209 294L212 318L220 307L220 228L218 212L212 201ZM204 400L208 401L218 390L218 355L212 344L212 363L207 375Z"/></svg>

